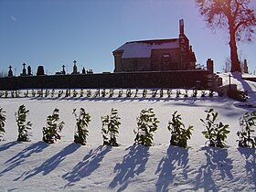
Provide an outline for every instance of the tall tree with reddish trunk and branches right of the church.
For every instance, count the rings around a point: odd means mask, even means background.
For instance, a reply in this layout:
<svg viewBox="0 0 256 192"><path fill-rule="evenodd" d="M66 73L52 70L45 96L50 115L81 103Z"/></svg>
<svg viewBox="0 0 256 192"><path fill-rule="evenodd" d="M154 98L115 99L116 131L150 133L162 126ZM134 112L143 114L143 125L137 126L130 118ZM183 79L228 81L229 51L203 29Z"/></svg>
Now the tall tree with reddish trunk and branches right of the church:
<svg viewBox="0 0 256 192"><path fill-rule="evenodd" d="M256 26L251 0L195 0L208 27L228 28L231 72L241 71L237 41L251 42Z"/></svg>

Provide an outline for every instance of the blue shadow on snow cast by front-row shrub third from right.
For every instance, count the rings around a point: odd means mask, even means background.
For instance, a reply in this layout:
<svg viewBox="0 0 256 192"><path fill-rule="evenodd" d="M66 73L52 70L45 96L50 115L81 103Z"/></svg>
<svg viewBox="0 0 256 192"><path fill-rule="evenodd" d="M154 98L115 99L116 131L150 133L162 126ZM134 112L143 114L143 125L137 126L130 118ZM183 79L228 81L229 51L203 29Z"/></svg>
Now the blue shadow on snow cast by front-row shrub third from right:
<svg viewBox="0 0 256 192"><path fill-rule="evenodd" d="M188 149L169 146L166 155L159 162L155 175L159 174L155 184L155 191L168 191L168 186L173 183L176 166L182 168L182 175L187 178Z"/></svg>

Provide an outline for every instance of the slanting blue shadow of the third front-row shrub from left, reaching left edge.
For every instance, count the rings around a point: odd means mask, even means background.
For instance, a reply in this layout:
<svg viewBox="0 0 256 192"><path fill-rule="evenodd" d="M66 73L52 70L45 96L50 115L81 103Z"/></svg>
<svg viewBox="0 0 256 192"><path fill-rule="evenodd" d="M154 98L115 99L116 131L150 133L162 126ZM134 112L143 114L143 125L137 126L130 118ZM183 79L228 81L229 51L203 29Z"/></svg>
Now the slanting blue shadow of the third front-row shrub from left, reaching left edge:
<svg viewBox="0 0 256 192"><path fill-rule="evenodd" d="M7 146L10 147L14 144L17 144L17 142L11 143L11 144L8 143ZM44 142L37 142L35 144L30 144L25 149L23 149L21 152L19 152L17 155L13 156L12 158L8 159L5 162L5 165L7 165L7 167L5 168L5 170L3 170L0 173L0 176L3 176L6 172L11 171L16 166L21 165L23 162L26 161L26 159L29 156L41 152L47 146L48 146L48 144L46 144Z"/></svg>

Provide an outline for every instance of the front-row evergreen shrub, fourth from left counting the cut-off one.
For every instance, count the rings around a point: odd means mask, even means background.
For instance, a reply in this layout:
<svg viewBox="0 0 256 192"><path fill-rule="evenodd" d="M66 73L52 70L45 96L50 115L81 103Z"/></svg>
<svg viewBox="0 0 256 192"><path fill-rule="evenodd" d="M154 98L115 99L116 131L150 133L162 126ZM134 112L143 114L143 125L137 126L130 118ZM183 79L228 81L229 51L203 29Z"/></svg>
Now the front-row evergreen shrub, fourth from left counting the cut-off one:
<svg viewBox="0 0 256 192"><path fill-rule="evenodd" d="M76 109L73 110L73 114L76 118L76 131L74 134L74 142L77 144L86 144L86 137L88 136L88 125L91 122L91 116L88 112L85 112L83 108L80 108L80 115L76 113Z"/></svg>

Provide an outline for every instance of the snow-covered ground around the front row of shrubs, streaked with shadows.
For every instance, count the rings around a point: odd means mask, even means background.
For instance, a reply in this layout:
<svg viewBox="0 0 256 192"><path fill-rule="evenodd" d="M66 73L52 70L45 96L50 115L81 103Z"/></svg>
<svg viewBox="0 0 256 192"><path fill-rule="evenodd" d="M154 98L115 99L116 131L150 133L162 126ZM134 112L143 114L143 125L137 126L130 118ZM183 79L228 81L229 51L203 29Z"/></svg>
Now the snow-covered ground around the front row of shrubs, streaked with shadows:
<svg viewBox="0 0 256 192"><path fill-rule="evenodd" d="M228 83L228 74L223 74ZM255 149L237 146L239 119L244 112L255 111L256 83L233 79L240 89L249 91L245 103L226 97L176 98L1 98L6 112L5 141L0 142L0 191L255 191ZM185 91L183 91L184 93ZM191 91L189 94L191 95ZM124 91L125 94L125 91ZM18 143L15 112L25 104L27 121L33 123L31 142ZM250 105L250 106L251 106ZM73 143L75 118L73 109L85 108L91 114L88 144ZM58 108L65 122L62 138L56 144L45 144L42 127L52 111ZM118 147L102 145L101 116L117 109L121 117ZM153 108L160 121L154 146L133 145L136 117L141 110ZM201 133L200 118L206 110L219 112L218 122L228 123L230 133L224 149L208 147ZM183 122L194 126L187 148L169 145L167 130L171 114L177 111Z"/></svg>

